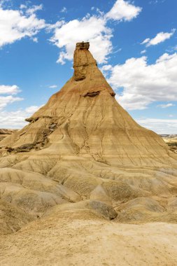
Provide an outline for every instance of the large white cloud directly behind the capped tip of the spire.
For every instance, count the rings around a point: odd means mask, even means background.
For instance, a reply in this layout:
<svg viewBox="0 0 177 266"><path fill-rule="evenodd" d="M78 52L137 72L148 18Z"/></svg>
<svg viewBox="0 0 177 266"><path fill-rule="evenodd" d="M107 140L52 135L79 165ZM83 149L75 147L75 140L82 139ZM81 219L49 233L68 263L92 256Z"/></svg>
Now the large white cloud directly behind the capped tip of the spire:
<svg viewBox="0 0 177 266"><path fill-rule="evenodd" d="M111 36L111 29L106 27L106 20L92 16L82 20L71 20L61 27L56 27L50 41L58 48L65 48L65 51L59 53L57 60L61 64L64 64L66 59L73 59L73 50L80 41L90 41L90 50L94 57L99 63L104 63L112 50Z"/></svg>

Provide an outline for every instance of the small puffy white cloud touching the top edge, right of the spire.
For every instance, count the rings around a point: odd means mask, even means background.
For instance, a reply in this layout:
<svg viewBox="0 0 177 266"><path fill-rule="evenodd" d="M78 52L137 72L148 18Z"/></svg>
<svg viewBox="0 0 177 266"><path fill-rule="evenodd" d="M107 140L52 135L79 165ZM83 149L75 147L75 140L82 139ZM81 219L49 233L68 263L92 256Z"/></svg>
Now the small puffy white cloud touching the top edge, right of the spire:
<svg viewBox="0 0 177 266"><path fill-rule="evenodd" d="M125 20L130 21L136 18L141 12L142 8L134 6L128 1L117 0L113 5L113 8L106 14L106 18L113 20Z"/></svg>

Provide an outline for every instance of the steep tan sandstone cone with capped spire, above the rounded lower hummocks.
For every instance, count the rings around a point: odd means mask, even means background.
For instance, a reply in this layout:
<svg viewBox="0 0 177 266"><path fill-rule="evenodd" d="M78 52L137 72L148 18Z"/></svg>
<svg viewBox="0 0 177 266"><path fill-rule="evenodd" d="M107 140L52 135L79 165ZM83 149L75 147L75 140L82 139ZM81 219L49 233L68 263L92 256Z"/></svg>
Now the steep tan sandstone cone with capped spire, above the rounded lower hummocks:
<svg viewBox="0 0 177 266"><path fill-rule="evenodd" d="M89 43L76 43L73 69L64 87L27 119L29 125L1 141L1 147L10 146L11 153L43 149L43 153L87 155L115 166L173 160L164 141L138 125L116 102Z"/></svg>

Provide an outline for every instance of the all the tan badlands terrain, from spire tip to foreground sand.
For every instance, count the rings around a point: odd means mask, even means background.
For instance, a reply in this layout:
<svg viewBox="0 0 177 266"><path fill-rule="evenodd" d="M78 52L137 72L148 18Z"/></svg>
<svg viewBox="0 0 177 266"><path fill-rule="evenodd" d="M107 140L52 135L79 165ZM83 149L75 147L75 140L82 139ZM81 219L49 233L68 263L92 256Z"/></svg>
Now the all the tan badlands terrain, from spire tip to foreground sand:
<svg viewBox="0 0 177 266"><path fill-rule="evenodd" d="M0 141L0 265L177 265L176 153L116 102L89 43L73 69Z"/></svg>

